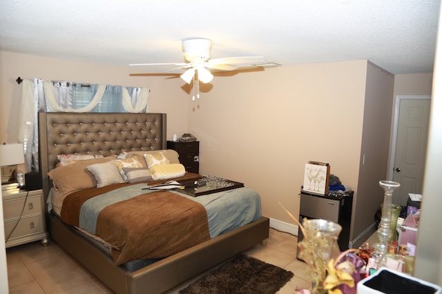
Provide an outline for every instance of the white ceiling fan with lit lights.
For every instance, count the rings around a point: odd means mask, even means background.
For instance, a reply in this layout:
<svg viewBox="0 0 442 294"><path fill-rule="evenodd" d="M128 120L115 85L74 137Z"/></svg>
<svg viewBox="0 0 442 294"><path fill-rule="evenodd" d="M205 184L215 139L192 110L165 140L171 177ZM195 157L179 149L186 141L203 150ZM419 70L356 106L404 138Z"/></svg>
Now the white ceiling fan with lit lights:
<svg viewBox="0 0 442 294"><path fill-rule="evenodd" d="M238 70L239 68L259 66L265 61L264 57L227 57L210 59L212 41L205 38L184 39L182 41L182 55L185 62L182 63L132 63L129 66L177 66L171 70L186 69L180 77L187 84L198 87L196 81L206 84L213 79L210 70ZM170 70L169 70L170 71ZM199 96L199 95L198 95ZM195 98L195 97L194 97Z"/></svg>

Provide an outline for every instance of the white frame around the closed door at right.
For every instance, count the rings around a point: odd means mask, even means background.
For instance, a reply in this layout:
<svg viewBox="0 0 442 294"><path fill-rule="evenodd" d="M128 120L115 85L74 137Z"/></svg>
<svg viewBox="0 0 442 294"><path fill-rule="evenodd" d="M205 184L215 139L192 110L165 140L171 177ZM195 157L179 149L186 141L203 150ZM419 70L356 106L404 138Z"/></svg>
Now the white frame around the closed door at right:
<svg viewBox="0 0 442 294"><path fill-rule="evenodd" d="M399 107L401 106L402 100L417 100L417 99L428 99L431 100L431 95L396 95L394 97L394 107L393 107L393 117L392 117L392 132L390 138L390 150L388 154L388 164L387 164L387 179L389 181L393 180L394 177L394 159L396 159L396 147L398 139L398 124L399 124Z"/></svg>

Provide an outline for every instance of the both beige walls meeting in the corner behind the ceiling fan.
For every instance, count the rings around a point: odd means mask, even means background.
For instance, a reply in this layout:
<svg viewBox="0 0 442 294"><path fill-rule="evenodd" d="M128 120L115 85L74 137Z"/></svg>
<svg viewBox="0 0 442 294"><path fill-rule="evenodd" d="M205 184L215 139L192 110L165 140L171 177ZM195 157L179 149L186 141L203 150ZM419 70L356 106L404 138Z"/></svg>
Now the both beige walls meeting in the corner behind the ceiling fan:
<svg viewBox="0 0 442 294"><path fill-rule="evenodd" d="M215 77L191 101L181 79L131 77L139 68L0 52L0 141L17 139L17 77L146 86L149 109L168 114L168 137L190 132L201 141L200 172L244 182L262 195L263 213L293 224L303 166L329 161L357 191L367 61L268 68ZM357 193L357 192L356 192Z"/></svg>

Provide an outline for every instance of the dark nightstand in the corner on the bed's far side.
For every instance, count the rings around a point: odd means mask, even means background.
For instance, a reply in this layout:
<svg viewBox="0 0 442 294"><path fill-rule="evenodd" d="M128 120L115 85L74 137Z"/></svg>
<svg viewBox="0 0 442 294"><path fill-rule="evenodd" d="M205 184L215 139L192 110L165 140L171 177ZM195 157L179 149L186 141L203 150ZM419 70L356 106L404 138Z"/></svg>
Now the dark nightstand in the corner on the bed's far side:
<svg viewBox="0 0 442 294"><path fill-rule="evenodd" d="M167 141L167 148L175 150L180 155L180 163L189 173L200 173L200 142Z"/></svg>

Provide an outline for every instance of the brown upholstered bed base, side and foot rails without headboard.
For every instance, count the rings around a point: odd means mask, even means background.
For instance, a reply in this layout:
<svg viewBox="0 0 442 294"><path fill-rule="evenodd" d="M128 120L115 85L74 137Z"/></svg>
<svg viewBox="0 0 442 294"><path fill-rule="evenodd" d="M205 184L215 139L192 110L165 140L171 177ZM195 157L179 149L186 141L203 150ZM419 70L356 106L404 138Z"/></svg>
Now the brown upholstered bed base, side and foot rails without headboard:
<svg viewBox="0 0 442 294"><path fill-rule="evenodd" d="M269 219L237 228L203 244L129 272L106 253L48 215L50 237L116 293L164 293L269 237Z"/></svg>

